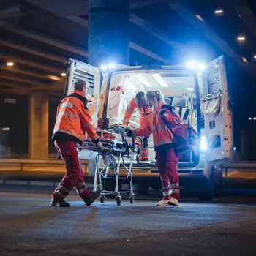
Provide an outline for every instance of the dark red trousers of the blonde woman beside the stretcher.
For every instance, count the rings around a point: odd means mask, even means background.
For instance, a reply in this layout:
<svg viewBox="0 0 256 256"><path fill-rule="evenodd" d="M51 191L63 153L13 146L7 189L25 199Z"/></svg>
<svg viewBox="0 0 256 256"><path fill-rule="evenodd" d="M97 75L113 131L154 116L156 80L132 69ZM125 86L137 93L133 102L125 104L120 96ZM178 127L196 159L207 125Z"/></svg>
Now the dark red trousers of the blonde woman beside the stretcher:
<svg viewBox="0 0 256 256"><path fill-rule="evenodd" d="M173 148L157 153L157 166L162 181L162 194L164 200L170 200L171 197L179 198L178 184L178 157Z"/></svg>

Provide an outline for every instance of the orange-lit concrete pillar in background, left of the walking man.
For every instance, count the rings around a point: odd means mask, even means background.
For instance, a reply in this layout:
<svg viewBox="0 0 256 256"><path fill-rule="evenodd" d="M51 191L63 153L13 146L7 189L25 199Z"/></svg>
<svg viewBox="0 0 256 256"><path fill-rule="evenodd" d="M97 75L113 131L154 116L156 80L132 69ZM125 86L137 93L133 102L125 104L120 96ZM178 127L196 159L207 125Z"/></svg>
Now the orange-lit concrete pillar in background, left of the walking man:
<svg viewBox="0 0 256 256"><path fill-rule="evenodd" d="M48 93L34 91L30 97L30 158L48 158Z"/></svg>

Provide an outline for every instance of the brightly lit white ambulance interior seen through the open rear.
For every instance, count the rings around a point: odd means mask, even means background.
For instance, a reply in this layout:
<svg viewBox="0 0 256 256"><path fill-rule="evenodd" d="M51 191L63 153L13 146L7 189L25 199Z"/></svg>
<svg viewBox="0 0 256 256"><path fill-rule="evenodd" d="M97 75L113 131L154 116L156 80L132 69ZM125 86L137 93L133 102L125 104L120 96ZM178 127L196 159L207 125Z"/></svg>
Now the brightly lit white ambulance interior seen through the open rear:
<svg viewBox="0 0 256 256"><path fill-rule="evenodd" d="M192 126L197 131L197 106L195 78L186 70L143 70L115 72L110 80L107 117L111 124L122 124L127 105L138 91L162 91L166 104L173 105L181 116L181 123ZM138 110L133 113L129 126L138 127ZM151 135L148 140L149 159L154 163L154 143ZM195 152L179 156L179 165L196 164Z"/></svg>

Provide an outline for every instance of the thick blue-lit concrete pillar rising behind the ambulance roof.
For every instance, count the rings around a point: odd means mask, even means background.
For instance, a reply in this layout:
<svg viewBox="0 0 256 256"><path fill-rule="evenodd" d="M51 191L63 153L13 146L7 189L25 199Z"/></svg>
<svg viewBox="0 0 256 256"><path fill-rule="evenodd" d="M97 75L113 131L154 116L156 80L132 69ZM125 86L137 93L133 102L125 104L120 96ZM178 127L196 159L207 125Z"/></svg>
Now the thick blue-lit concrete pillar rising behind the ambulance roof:
<svg viewBox="0 0 256 256"><path fill-rule="evenodd" d="M89 64L129 65L128 0L89 0Z"/></svg>

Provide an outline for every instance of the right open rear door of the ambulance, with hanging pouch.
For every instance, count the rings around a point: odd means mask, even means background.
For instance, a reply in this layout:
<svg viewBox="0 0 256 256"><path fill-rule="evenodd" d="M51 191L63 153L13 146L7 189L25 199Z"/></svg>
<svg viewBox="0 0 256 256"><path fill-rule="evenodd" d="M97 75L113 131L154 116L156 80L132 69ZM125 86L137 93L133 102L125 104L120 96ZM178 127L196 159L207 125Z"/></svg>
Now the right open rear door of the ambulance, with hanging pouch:
<svg viewBox="0 0 256 256"><path fill-rule="evenodd" d="M229 161L233 148L232 113L224 56L211 61L203 74L206 160L210 164Z"/></svg>

